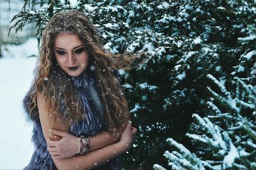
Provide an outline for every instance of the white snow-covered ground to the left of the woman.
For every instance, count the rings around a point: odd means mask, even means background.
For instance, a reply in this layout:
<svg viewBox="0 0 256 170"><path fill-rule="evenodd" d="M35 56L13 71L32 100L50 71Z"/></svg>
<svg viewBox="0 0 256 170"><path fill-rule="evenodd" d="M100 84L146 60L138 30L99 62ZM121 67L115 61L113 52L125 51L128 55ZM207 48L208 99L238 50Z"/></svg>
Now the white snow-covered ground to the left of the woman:
<svg viewBox="0 0 256 170"><path fill-rule="evenodd" d="M6 46L0 59L0 169L22 169L31 159L31 124L25 121L22 98L28 91L38 55L36 39ZM3 50L3 48L2 48Z"/></svg>

